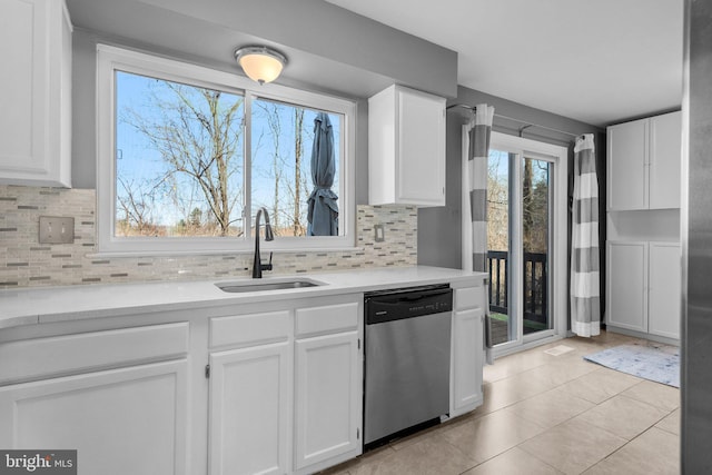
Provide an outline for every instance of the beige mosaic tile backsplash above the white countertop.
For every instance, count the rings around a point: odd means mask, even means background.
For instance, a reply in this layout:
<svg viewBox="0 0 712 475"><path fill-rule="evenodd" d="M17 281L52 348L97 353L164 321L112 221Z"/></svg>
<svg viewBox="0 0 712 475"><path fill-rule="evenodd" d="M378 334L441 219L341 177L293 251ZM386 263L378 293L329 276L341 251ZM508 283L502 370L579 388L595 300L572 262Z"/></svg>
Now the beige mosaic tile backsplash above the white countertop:
<svg viewBox="0 0 712 475"><path fill-rule="evenodd" d="M75 243L39 244L39 217L75 218ZM160 257L96 255L96 192L0 185L0 288L249 277L251 253ZM375 241L382 224L385 240ZM357 243L339 251L275 253L271 274L417 264L417 208L358 206Z"/></svg>

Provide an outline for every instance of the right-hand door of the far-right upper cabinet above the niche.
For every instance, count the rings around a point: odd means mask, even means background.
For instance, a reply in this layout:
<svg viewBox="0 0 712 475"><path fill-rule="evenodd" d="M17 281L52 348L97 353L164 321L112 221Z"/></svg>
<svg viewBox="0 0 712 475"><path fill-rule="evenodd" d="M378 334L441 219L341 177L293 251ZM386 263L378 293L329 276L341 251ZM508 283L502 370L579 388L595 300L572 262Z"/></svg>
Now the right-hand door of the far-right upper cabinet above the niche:
<svg viewBox="0 0 712 475"><path fill-rule="evenodd" d="M680 208L682 115L650 119L650 208Z"/></svg>

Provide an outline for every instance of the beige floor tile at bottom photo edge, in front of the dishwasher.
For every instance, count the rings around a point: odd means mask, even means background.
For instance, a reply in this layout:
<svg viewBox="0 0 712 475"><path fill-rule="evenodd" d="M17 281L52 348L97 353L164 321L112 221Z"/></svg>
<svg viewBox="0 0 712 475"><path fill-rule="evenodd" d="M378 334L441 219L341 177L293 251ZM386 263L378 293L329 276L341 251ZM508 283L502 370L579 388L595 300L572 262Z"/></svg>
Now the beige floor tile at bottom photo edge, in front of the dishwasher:
<svg viewBox="0 0 712 475"><path fill-rule="evenodd" d="M348 467L350 475L458 475L477 465L437 434Z"/></svg>

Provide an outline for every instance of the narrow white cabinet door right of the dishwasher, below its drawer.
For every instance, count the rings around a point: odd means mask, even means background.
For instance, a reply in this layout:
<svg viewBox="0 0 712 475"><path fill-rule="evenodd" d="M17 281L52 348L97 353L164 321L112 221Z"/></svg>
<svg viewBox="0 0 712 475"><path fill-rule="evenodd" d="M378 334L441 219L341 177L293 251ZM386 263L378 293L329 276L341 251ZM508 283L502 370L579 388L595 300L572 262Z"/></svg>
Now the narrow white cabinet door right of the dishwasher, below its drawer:
<svg viewBox="0 0 712 475"><path fill-rule="evenodd" d="M482 308L453 316L453 395L451 417L482 404Z"/></svg>

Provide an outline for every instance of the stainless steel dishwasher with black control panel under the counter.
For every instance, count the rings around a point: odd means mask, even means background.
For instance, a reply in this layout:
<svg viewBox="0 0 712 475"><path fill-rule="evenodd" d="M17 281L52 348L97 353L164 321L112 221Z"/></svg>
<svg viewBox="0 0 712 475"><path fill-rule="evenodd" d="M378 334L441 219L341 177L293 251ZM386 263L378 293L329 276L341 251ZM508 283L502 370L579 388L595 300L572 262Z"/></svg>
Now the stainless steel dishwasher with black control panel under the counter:
<svg viewBox="0 0 712 475"><path fill-rule="evenodd" d="M364 447L439 423L449 412L453 290L365 295Z"/></svg>

